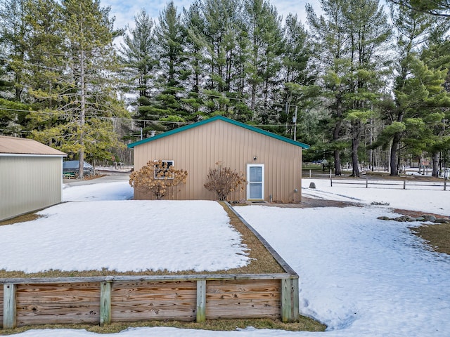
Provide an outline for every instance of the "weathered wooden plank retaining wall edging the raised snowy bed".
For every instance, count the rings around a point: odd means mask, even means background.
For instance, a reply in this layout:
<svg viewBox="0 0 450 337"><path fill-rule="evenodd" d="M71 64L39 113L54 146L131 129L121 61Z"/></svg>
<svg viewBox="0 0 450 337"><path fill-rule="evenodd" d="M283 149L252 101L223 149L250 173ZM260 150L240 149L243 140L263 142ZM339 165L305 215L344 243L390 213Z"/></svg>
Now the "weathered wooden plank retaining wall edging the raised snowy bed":
<svg viewBox="0 0 450 337"><path fill-rule="evenodd" d="M0 327L266 317L296 322L298 275L243 218L236 216L285 272L0 279Z"/></svg>

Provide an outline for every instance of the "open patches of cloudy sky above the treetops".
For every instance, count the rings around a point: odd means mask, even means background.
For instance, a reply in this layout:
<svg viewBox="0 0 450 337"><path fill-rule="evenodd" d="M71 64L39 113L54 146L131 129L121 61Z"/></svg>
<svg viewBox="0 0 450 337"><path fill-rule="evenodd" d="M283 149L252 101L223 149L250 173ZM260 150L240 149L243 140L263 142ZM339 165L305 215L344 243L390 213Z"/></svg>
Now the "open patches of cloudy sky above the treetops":
<svg viewBox="0 0 450 337"><path fill-rule="evenodd" d="M126 25L134 26L134 16L145 8L151 18L157 19L160 12L165 8L168 1L165 0L101 0L102 6L110 6L110 14L115 16L115 27L124 28ZM174 0L175 6L181 12L182 8L188 8L192 0ZM314 6L316 13L320 11L319 0L271 0L279 15L286 18L288 13L296 13L303 24L306 23L307 15L304 7L307 3Z"/></svg>

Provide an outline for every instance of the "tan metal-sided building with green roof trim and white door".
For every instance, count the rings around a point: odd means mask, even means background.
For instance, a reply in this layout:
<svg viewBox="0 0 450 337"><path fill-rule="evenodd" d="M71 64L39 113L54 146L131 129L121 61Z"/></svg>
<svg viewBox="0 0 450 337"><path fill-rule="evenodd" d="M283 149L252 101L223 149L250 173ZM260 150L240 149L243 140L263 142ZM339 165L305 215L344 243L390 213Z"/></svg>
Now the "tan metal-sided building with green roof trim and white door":
<svg viewBox="0 0 450 337"><path fill-rule="evenodd" d="M173 187L166 199L214 200L204 185L216 163L243 173L244 190L229 200L300 202L302 150L309 145L260 128L217 116L128 145L134 149L134 170L148 161L168 161L188 171L186 185ZM134 199L154 199L134 190Z"/></svg>

